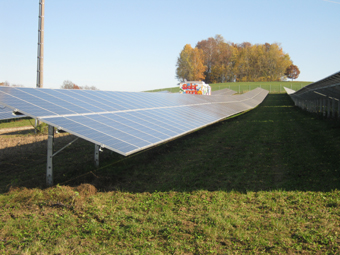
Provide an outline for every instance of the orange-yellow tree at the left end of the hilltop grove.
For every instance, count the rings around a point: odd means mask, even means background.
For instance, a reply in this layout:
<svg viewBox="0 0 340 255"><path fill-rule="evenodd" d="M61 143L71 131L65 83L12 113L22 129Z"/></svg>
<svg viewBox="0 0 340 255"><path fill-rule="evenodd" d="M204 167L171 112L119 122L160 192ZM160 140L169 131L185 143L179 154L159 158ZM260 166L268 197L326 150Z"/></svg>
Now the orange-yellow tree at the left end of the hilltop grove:
<svg viewBox="0 0 340 255"><path fill-rule="evenodd" d="M192 48L186 44L177 59L176 77L180 81L200 81L205 78L206 66L203 60L203 51Z"/></svg>

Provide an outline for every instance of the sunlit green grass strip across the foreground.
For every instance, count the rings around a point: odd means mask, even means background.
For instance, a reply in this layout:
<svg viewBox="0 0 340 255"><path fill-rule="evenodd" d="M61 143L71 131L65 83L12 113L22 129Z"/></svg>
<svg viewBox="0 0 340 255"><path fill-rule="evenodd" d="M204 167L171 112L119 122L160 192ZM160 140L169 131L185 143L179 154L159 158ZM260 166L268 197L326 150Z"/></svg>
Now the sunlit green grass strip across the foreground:
<svg viewBox="0 0 340 255"><path fill-rule="evenodd" d="M20 254L335 254L339 195L16 190L0 197L0 247Z"/></svg>

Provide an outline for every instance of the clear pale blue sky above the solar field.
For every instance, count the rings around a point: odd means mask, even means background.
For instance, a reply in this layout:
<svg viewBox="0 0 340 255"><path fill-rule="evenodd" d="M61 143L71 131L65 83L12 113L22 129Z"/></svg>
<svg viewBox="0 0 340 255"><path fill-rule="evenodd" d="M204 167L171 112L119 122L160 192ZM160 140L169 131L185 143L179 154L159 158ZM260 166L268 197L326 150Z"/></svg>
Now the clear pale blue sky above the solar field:
<svg viewBox="0 0 340 255"><path fill-rule="evenodd" d="M36 84L39 0L0 0L0 82ZM44 87L174 87L184 45L281 43L299 81L340 70L340 0L45 0Z"/></svg>

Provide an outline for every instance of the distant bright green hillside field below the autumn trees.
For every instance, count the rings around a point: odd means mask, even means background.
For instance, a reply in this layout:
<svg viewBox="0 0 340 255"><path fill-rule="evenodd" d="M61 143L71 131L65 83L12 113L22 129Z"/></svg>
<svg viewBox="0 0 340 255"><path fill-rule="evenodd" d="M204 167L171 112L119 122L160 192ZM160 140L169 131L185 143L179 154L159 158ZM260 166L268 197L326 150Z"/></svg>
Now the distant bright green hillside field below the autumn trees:
<svg viewBox="0 0 340 255"><path fill-rule="evenodd" d="M261 87L263 89L266 89L269 91L269 93L277 94L277 93L286 93L284 90L284 87L293 89L293 90L299 90L304 86L307 86L311 82L306 81L280 81L280 82L228 82L228 83L215 83L210 84L211 90L220 90L220 89L232 89L236 91L239 94L246 93L247 91L253 90L257 87ZM157 89L152 90L154 92L157 91L169 91L169 92L178 92L178 87L172 87L172 88L164 88L164 89Z"/></svg>

